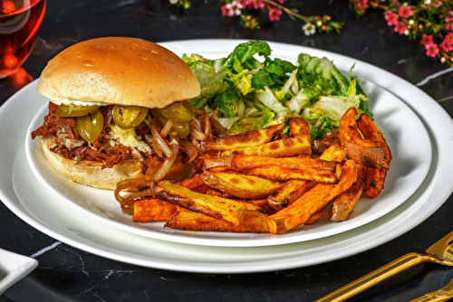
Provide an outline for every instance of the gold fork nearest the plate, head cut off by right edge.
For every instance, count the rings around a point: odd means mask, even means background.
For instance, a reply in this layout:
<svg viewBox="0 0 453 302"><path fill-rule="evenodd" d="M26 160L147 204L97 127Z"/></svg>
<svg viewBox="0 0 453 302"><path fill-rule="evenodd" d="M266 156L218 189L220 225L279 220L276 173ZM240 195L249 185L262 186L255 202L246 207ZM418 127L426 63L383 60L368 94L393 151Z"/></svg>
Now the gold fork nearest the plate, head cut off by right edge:
<svg viewBox="0 0 453 302"><path fill-rule="evenodd" d="M393 260L383 267L371 271L371 273L358 278L351 283L338 288L332 293L320 297L314 302L340 302L361 293L363 290L371 288L381 281L390 278L405 269L409 269L421 262L433 262L442 265L453 266L453 231L447 236L431 245L426 254L411 252Z"/></svg>

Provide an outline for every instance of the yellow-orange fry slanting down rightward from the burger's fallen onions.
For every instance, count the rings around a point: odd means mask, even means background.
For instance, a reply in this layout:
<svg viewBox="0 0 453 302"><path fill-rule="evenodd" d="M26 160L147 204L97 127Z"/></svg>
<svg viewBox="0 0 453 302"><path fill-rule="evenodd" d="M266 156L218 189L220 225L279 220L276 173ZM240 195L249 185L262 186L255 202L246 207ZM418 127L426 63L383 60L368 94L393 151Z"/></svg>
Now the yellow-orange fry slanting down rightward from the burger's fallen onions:
<svg viewBox="0 0 453 302"><path fill-rule="evenodd" d="M169 181L154 183L152 191L156 198L168 203L178 204L194 212L202 212L207 216L230 222L233 225L239 223L246 210L244 203L193 192L178 184L171 184Z"/></svg>

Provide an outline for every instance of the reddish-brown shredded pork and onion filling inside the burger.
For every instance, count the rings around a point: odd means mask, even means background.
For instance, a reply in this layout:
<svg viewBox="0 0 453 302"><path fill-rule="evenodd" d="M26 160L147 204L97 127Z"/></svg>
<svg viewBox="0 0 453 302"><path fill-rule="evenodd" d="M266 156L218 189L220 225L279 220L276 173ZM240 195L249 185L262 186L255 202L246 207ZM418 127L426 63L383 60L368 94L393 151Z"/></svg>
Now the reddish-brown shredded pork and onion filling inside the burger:
<svg viewBox="0 0 453 302"><path fill-rule="evenodd" d="M159 156L162 165L154 174L154 180L160 180L167 175L172 165L179 157L184 157L186 162L191 162L199 154L203 154L202 142L212 139L210 131L211 120L204 111L198 111L198 118L190 122L190 135L179 139L175 133L169 131L171 121L167 125L159 122L149 115L146 120L135 128L137 137L146 143L151 152L142 152L133 146L123 146L118 139L113 138L111 127L114 125L112 118L113 106L101 108L104 118L104 126L101 135L89 144L80 137L76 127L76 118L60 118L54 115L58 106L49 103L49 113L44 118L43 126L32 132L32 138L55 136L55 145L51 151L55 154L71 159L75 162L82 160L102 163L102 167L108 168L113 165L121 165L128 159L136 159L141 172L146 174L148 170L147 160L153 156ZM217 125L216 125L217 126ZM226 135L225 129L218 132L219 137Z"/></svg>

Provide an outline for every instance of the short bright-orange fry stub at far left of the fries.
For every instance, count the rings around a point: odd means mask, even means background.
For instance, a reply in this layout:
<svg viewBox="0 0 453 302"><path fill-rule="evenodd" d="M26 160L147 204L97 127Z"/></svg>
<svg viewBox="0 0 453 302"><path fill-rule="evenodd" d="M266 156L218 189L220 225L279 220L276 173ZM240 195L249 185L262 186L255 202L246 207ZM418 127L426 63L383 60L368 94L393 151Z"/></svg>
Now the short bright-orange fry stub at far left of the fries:
<svg viewBox="0 0 453 302"><path fill-rule="evenodd" d="M143 199L134 203L134 222L165 222L177 212L188 211L176 204L166 203L160 199Z"/></svg>

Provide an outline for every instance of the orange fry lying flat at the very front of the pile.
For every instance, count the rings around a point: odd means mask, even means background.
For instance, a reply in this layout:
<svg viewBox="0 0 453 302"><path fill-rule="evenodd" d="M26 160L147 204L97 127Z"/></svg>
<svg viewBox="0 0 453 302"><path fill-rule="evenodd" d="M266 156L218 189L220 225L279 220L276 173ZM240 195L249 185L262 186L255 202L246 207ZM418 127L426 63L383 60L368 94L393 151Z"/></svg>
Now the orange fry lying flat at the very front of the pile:
<svg viewBox="0 0 453 302"><path fill-rule="evenodd" d="M200 212L178 212L165 223L165 227L184 231L269 232L265 214L257 211L246 211L237 226Z"/></svg>

